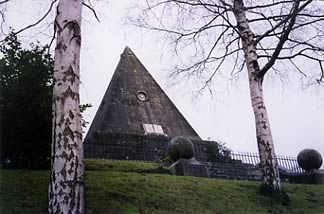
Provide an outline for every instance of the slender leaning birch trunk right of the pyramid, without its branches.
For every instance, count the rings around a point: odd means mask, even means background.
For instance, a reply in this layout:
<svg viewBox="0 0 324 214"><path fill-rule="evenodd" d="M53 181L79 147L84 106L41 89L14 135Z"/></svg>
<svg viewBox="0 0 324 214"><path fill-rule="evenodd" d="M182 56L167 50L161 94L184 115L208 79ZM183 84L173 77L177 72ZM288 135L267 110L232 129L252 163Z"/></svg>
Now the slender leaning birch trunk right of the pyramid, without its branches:
<svg viewBox="0 0 324 214"><path fill-rule="evenodd" d="M274 151L268 114L263 100L263 75L260 75L254 34L248 25L243 0L234 0L234 14L243 44L244 58L249 77L250 96L255 116L257 144L262 171L262 183L267 191L280 192L278 163Z"/></svg>

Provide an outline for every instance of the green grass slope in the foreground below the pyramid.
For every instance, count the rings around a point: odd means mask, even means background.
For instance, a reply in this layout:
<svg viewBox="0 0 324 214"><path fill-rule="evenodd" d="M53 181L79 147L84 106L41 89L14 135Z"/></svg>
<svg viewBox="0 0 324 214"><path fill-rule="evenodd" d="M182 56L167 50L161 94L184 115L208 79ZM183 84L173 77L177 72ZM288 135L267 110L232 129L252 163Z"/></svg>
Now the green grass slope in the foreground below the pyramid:
<svg viewBox="0 0 324 214"><path fill-rule="evenodd" d="M159 165L86 161L87 213L324 213L324 185L284 188L289 205L258 182L143 173ZM0 213L46 213L48 171L0 170Z"/></svg>

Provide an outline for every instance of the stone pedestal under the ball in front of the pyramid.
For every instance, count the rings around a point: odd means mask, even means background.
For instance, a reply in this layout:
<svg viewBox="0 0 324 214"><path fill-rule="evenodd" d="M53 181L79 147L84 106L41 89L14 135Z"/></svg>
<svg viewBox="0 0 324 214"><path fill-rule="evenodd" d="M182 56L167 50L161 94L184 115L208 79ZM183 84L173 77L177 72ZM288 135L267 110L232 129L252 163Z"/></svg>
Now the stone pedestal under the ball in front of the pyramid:
<svg viewBox="0 0 324 214"><path fill-rule="evenodd" d="M169 167L173 175L209 177L205 164L195 159L179 159Z"/></svg>

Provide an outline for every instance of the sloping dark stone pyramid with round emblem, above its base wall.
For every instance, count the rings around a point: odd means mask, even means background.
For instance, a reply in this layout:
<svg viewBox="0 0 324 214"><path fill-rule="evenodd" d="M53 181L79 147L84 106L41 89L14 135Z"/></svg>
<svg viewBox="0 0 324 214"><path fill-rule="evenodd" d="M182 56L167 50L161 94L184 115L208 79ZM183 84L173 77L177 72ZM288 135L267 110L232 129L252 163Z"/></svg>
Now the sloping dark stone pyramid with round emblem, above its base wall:
<svg viewBox="0 0 324 214"><path fill-rule="evenodd" d="M130 48L121 54L85 141L96 131L200 139Z"/></svg>

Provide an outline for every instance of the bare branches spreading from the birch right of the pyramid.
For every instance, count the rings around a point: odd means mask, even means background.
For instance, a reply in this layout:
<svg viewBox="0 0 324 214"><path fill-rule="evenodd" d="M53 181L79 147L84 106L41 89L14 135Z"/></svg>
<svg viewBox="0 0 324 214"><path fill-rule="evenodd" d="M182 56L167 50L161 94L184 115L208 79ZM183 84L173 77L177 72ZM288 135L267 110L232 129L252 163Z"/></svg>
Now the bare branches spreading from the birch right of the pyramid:
<svg viewBox="0 0 324 214"><path fill-rule="evenodd" d="M256 27L264 26L263 28L259 27L263 32L255 31L257 33L254 37L254 43L257 46L257 58L267 59L262 61L264 64L258 72L260 78L268 70L274 69L276 60L280 60L280 62L287 60L297 69L292 59L296 57L306 58L305 55L324 52L324 47L320 47L318 42L324 39L324 33L320 33L324 31L324 14L318 9L313 10L314 6L308 7L312 2L315 2L315 0L279 0L260 1L258 3L247 1L248 5L244 7L244 10L251 14L248 22L256 24ZM238 60L244 58L242 49L235 47L234 43L231 42L242 36L233 17L231 1L146 0L146 5L143 16L138 16L135 20L132 20L133 25L163 32L173 41L174 52L178 57L181 57L179 50L188 48L187 44L190 44L190 41L192 42L192 50L194 50L192 57L193 59L196 58L197 61L190 66L177 66L174 74L185 72L191 75L195 72L202 74L204 70L210 72L213 70L212 64L218 65L220 62L218 60L222 60L220 57L226 57L229 60L232 54L235 54L235 57L231 64L233 67L230 73L234 75L235 70L242 71L242 64L245 62ZM148 17L153 17L153 19L150 20ZM170 23L171 17L177 17L173 25ZM314 32L319 33L312 35L307 41L297 38L298 35L301 35L298 34L299 31L311 27L314 28ZM209 42L209 47L206 40L204 41L207 37L214 40ZM227 46L226 43L229 45ZM232 51L229 51L231 49ZM316 61L315 59L318 58L310 56L307 59ZM228 60L225 60L224 63ZM188 60L188 63L190 61ZM298 69L301 75L305 74L301 68ZM214 76L212 74L213 72L210 76Z"/></svg>

